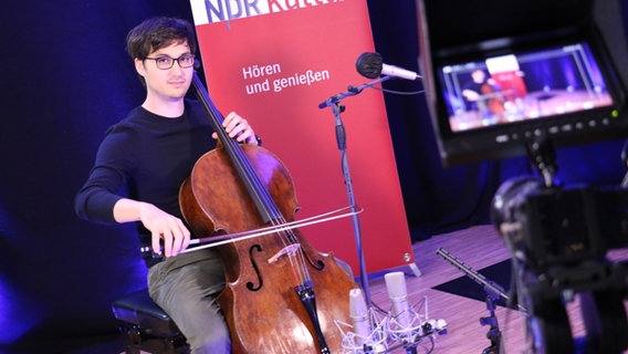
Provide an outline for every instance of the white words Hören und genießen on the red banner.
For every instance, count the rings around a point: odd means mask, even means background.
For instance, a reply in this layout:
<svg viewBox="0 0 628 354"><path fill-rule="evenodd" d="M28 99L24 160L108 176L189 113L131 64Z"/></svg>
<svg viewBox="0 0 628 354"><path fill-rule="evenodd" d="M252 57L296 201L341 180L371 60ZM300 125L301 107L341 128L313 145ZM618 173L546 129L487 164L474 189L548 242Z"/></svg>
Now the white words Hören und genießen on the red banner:
<svg viewBox="0 0 628 354"><path fill-rule="evenodd" d="M244 79L260 79L263 76L270 76L274 74L281 74L281 65L280 64L269 64L269 65L250 65L242 67L242 76ZM284 88L300 86L300 85L312 85L318 81L329 80L329 72L326 70L323 71L312 71L308 70L305 73L295 73L292 76L284 76L280 79L274 79L272 81L272 88L274 92L281 92ZM270 79L265 79L263 81L254 82L247 84L244 90L247 94L253 95L257 93L262 92L270 92L271 91L271 82Z"/></svg>

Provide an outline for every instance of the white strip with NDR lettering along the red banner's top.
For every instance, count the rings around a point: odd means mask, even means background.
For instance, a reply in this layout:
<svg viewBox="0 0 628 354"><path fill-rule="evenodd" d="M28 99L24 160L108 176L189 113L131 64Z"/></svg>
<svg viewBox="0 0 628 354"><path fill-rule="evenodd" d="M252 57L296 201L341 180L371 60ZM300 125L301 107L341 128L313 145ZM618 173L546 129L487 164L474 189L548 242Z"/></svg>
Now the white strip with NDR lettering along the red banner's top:
<svg viewBox="0 0 628 354"><path fill-rule="evenodd" d="M190 0L195 24L299 10L344 0Z"/></svg>

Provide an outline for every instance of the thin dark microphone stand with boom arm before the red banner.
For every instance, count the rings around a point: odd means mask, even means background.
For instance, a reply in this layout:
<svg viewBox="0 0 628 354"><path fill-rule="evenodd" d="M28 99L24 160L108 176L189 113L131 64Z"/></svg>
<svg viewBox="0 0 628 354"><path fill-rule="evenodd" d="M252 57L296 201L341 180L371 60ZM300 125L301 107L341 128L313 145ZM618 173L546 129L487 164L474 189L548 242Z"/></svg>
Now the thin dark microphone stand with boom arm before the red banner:
<svg viewBox="0 0 628 354"><path fill-rule="evenodd" d="M341 105L341 101L343 101L343 98L348 97L348 96L355 96L355 95L362 93L365 88L377 85L377 84L385 82L389 79L390 79L390 76L384 76L384 77L371 81L371 82L366 83L366 84L358 86L358 87L348 86L347 92L343 92L343 93L339 93L337 95L334 95L334 96L327 98L325 102L323 102L318 105L318 108L321 108L321 110L323 110L325 107L332 107L332 111L334 113L335 124L336 124L336 142L337 142L337 145L338 145L338 149L341 150L341 166L342 166L343 176L345 178L345 187L346 187L346 190L347 190L349 207L350 207L352 211L354 211L354 212L357 210L357 206L356 206L355 197L354 197L354 192L353 192L349 164L348 164L347 154L346 154L346 150L347 150L346 133L345 133L345 127L343 125L343 121L341 118L341 114L343 112L345 112L345 106ZM354 214L352 216L352 221L353 221L355 244L356 244L356 249L357 249L357 257L358 257L358 261L359 261L359 279L360 279L360 284L362 284L362 289L363 289L363 292L364 292L364 300L366 301L367 306L370 308L371 302L370 302L370 291L369 291L369 288L368 288L368 274L366 272L366 262L365 262L365 259L364 259L364 250L362 248L362 232L360 232L360 229L359 229L359 219L358 219L357 214Z"/></svg>

